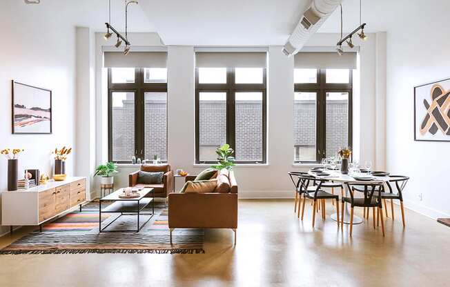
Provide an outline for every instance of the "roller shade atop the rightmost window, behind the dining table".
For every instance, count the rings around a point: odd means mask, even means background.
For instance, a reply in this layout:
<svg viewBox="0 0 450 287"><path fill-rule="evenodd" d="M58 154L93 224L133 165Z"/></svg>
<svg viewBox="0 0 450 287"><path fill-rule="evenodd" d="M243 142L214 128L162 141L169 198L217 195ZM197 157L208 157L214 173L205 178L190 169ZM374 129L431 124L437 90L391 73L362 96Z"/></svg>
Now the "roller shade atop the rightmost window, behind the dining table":
<svg viewBox="0 0 450 287"><path fill-rule="evenodd" d="M305 69L355 69L356 53L344 52L298 52L294 56L295 68Z"/></svg>

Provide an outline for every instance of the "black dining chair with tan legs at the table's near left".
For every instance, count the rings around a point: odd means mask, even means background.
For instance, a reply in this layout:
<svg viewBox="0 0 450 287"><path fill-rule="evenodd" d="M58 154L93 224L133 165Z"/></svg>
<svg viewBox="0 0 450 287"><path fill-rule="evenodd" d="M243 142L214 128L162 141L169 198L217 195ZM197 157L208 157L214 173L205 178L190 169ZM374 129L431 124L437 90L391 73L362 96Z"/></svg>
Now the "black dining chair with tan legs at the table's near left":
<svg viewBox="0 0 450 287"><path fill-rule="evenodd" d="M322 204L322 219L326 217L326 199L333 199L336 201L336 210L337 210L337 227L339 227L339 195L332 195L329 192L326 192L322 189L322 184L328 182L326 179L320 179L317 177L313 177L312 175L299 175L299 195L300 195L300 203L302 195L303 195L303 204L302 204L302 220L304 217L304 206L306 205L306 199L313 200L313 228L315 226L315 213L317 212L318 203ZM300 217L300 204L297 206L297 217Z"/></svg>

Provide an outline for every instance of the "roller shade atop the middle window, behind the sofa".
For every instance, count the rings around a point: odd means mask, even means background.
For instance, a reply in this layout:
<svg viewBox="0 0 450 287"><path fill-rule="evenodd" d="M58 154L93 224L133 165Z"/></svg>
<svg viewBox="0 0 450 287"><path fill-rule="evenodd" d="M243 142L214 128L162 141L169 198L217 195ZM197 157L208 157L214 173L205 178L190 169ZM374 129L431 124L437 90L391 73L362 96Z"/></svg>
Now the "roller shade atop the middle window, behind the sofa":
<svg viewBox="0 0 450 287"><path fill-rule="evenodd" d="M266 52L196 52L197 68L266 68Z"/></svg>

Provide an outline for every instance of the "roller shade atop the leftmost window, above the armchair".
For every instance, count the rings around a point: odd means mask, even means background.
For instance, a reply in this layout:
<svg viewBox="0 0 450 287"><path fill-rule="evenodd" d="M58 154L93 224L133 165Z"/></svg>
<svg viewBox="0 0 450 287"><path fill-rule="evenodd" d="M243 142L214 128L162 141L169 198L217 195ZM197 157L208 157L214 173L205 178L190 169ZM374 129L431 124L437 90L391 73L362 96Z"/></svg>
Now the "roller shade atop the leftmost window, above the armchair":
<svg viewBox="0 0 450 287"><path fill-rule="evenodd" d="M104 68L166 68L167 52L104 52Z"/></svg>

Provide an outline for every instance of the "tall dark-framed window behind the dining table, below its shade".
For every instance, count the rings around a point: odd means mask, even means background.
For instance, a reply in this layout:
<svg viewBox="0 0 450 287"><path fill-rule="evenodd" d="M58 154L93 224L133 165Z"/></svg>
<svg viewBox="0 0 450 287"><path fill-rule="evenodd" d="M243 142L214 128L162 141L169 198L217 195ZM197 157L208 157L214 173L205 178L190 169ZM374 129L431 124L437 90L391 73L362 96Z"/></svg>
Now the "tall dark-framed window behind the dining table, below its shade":
<svg viewBox="0 0 450 287"><path fill-rule="evenodd" d="M294 161L320 162L351 146L352 70L294 70Z"/></svg>

